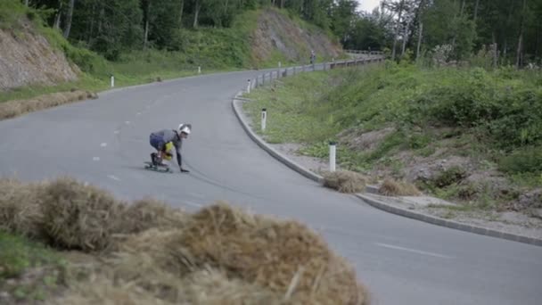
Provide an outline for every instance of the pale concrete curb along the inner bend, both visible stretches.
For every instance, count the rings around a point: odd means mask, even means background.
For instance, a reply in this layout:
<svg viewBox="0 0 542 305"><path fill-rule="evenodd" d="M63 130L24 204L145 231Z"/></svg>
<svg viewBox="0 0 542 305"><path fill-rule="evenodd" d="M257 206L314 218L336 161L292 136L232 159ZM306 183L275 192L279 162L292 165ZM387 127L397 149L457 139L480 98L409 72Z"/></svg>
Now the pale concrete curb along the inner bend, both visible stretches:
<svg viewBox="0 0 542 305"><path fill-rule="evenodd" d="M241 122L242 128L250 136L250 138L256 144L258 144L259 147L261 147L264 151L268 152L270 155L275 157L276 160L283 162L286 166L299 172L301 175L308 177L309 179L314 180L318 183L322 183L324 181L324 177L316 175L312 171L300 166L300 164L288 159L281 152L277 152L274 148L272 148L269 144L267 144L260 136L256 135L252 131L249 124L244 118L244 114L242 113L242 107L241 107L241 103L247 102L247 100L244 98L239 98L240 95L242 95L242 91L239 91L234 96L234 99L232 100L232 108L234 109L235 116ZM369 194L377 194L378 189L374 185L367 185L365 188L365 192ZM477 226L467 225L464 223L460 223L460 222L456 222L456 221L452 221L452 220L448 220L444 218L438 218L438 217L418 213L412 210L401 209L389 203L378 201L365 194L354 194L354 195L358 199L361 199L362 201L367 202L367 204L373 206L374 208L377 208L379 210L385 210L392 214L396 214L396 215L403 216L406 218L413 218L415 220L420 220L420 221L427 222L433 225L448 227L448 228L461 230L461 231L465 231L465 232L469 232L473 234L486 235L486 236L497 237L497 238L506 239L506 240L519 242L519 243L529 243L533 245L542 246L542 239L538 239L536 237L529 237L525 235L515 235L512 233L506 233L506 232L490 229L487 227L477 227Z"/></svg>

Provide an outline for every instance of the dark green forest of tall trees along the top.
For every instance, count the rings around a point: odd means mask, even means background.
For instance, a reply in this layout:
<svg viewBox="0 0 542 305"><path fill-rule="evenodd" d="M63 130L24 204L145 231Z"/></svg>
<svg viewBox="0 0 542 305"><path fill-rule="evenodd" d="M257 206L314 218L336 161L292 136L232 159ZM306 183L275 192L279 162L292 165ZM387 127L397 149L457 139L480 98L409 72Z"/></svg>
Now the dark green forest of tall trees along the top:
<svg viewBox="0 0 542 305"><path fill-rule="evenodd" d="M337 37L347 49L392 59L439 54L491 65L539 64L542 0L382 0L360 12L355 0L22 0L74 45L109 60L130 50L182 51L201 28L229 28L243 12L275 6Z"/></svg>

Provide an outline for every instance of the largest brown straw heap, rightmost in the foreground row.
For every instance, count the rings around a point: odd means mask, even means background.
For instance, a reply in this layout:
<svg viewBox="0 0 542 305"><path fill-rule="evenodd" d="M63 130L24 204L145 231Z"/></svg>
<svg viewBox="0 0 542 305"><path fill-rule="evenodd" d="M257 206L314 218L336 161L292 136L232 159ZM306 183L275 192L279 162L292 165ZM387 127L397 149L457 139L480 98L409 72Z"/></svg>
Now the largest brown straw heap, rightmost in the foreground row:
<svg viewBox="0 0 542 305"><path fill-rule="evenodd" d="M218 202L195 213L179 237L172 247L190 251L195 266L223 268L230 276L313 304L365 301L355 270L299 222L250 215Z"/></svg>

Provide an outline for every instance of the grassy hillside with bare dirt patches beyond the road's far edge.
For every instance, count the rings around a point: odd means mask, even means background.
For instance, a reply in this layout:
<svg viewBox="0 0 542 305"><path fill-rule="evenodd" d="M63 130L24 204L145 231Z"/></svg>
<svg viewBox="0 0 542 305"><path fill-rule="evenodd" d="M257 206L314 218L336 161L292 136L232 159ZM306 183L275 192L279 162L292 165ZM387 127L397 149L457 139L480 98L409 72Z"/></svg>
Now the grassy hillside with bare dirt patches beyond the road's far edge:
<svg viewBox="0 0 542 305"><path fill-rule="evenodd" d="M323 29L273 8L238 12L228 27L177 29L168 40L171 47L123 47L114 58L65 39L47 23L50 15L51 10L19 2L0 7L0 36L5 37L0 49L6 50L0 63L0 102L73 88L103 90L110 87L111 75L115 86L123 87L195 75L198 67L209 73L306 62L311 49L319 60L341 56L341 46Z"/></svg>

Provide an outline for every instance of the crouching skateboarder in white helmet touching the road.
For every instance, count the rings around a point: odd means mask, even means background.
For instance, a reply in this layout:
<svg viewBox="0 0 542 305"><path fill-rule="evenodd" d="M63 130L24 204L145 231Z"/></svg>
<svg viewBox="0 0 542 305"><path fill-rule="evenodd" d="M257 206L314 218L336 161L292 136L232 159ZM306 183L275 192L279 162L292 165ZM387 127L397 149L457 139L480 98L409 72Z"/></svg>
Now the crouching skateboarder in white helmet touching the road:
<svg viewBox="0 0 542 305"><path fill-rule="evenodd" d="M173 157L173 148L177 152L177 163L181 172L190 172L188 169L183 168L183 159L181 156L181 146L183 145L183 139L190 135L192 124L180 124L176 129L162 129L151 133L149 136L149 142L151 146L156 149L157 152L151 153L151 161L154 166L167 166L162 163L163 159L171 160Z"/></svg>

